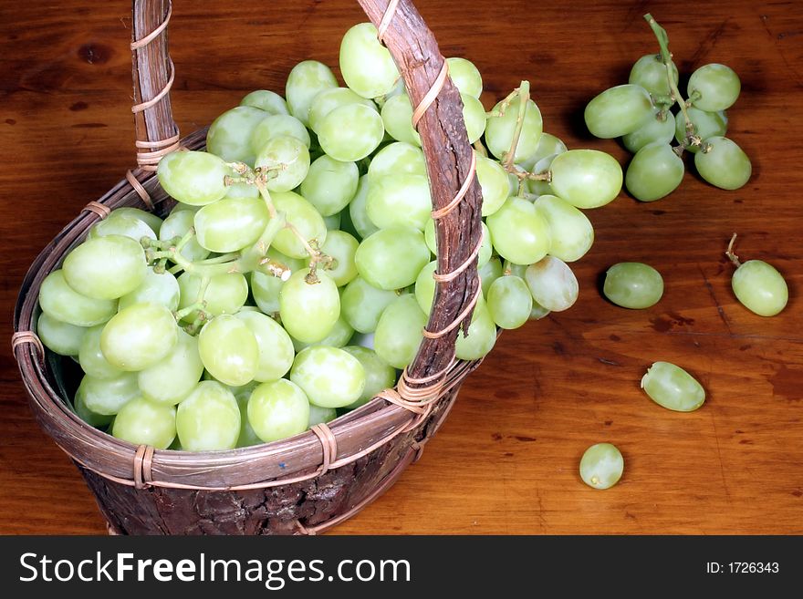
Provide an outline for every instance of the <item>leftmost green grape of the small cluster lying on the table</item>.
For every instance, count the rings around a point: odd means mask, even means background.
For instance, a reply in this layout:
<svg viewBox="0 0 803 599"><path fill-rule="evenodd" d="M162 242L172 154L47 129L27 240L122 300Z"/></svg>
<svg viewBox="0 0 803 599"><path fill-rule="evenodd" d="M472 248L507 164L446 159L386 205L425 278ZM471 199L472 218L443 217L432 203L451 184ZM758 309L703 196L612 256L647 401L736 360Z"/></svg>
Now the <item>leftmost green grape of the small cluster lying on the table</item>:
<svg viewBox="0 0 803 599"><path fill-rule="evenodd" d="M632 133L654 111L652 98L641 86L626 84L606 89L586 107L586 126L591 135L610 139Z"/></svg>

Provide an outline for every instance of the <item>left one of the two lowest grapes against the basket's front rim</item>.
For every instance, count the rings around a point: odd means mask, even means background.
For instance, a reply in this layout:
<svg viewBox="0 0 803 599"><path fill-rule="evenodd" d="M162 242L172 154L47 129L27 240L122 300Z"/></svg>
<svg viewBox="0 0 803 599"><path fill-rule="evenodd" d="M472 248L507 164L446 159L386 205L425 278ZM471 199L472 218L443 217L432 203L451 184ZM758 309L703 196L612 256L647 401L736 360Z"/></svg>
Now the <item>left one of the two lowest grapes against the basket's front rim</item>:
<svg viewBox="0 0 803 599"><path fill-rule="evenodd" d="M120 408L111 434L134 445L167 449L175 439L175 415L172 406L133 398Z"/></svg>

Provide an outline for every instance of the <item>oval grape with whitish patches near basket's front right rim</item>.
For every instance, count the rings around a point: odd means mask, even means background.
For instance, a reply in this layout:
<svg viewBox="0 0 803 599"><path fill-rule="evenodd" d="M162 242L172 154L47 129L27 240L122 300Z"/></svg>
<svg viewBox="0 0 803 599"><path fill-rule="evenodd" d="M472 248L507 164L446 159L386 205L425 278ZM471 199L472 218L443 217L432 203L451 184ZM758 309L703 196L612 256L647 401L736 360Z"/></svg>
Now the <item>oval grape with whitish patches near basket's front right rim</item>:
<svg viewBox="0 0 803 599"><path fill-rule="evenodd" d="M360 360L338 347L312 346L296 356L290 380L314 406L344 408L362 395L365 369Z"/></svg>

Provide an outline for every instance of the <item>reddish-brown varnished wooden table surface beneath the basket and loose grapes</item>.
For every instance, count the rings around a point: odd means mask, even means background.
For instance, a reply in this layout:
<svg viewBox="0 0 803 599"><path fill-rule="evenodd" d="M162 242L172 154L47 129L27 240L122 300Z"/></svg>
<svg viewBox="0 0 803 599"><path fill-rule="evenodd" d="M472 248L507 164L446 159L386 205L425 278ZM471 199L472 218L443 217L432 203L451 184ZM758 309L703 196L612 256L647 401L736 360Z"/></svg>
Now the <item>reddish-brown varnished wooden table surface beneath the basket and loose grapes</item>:
<svg viewBox="0 0 803 599"><path fill-rule="evenodd" d="M742 94L728 137L753 161L738 191L687 172L670 197L626 192L589 212L597 241L575 265L579 302L505 333L467 379L420 462L338 533L803 533L803 18L797 2L421 0L445 56L485 76L487 108L532 83L545 129L569 148L606 150L582 120L589 98L627 82L656 51L641 15L670 34L682 73L733 67ZM246 91L281 91L299 60L337 65L354 2L253 5L176 0L173 109L184 134ZM104 522L67 456L36 426L8 340L28 264L133 162L130 5L0 5L0 532L97 533ZM693 170L693 169L692 169ZM724 251L767 260L790 300L774 318L739 305ZM600 294L612 263L651 263L666 293L629 311ZM704 407L673 413L639 380L653 361L687 368ZM609 491L579 479L592 443L622 451Z"/></svg>

